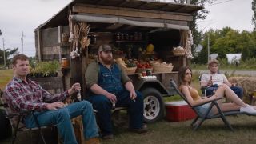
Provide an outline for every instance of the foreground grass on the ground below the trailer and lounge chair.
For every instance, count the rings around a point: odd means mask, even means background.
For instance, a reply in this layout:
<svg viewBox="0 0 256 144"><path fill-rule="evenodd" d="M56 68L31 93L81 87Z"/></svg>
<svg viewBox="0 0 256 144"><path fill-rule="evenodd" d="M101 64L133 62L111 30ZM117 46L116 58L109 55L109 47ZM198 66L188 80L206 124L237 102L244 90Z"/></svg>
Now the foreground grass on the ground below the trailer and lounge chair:
<svg viewBox="0 0 256 144"><path fill-rule="evenodd" d="M148 124L149 133L134 134L127 130L126 125L114 127L114 139L102 140L102 144L172 144L172 143L246 143L256 142L256 118L238 115L227 117L234 132L224 126L221 118L206 120L198 131L193 131L190 121L168 122L162 120ZM0 141L10 143L10 138ZM20 143L20 142L18 142ZM22 142L21 142L22 143Z"/></svg>

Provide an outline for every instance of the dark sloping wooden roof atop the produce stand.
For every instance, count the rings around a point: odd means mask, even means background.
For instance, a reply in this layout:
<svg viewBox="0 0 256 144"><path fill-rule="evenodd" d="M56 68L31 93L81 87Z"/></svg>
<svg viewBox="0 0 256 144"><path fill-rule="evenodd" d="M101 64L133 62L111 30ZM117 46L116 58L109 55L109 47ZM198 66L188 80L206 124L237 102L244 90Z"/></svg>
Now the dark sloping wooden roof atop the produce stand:
<svg viewBox="0 0 256 144"><path fill-rule="evenodd" d="M152 2L150 0L73 0L52 18L40 25L38 28L67 26L68 15L72 6L76 4L86 4L91 6L114 6L120 8L132 8L138 10L158 10L162 12L174 12L182 14L192 14L202 10L202 6L188 5L174 2Z"/></svg>

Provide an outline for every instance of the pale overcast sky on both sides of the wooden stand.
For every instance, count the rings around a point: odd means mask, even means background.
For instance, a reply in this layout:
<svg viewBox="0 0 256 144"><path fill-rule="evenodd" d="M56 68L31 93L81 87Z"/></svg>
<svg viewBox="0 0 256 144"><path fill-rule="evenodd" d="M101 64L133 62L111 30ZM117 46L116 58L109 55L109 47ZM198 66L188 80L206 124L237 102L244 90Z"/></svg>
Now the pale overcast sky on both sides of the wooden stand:
<svg viewBox="0 0 256 144"><path fill-rule="evenodd" d="M5 49L18 47L21 53L23 31L23 54L34 56L34 29L70 2L71 0L0 0L0 29L3 32L0 36L0 49L3 49L4 38ZM235 30L252 31L251 2L252 0L217 0L211 6L206 5L205 9L210 13L205 20L197 22L198 29L206 31L230 26Z"/></svg>

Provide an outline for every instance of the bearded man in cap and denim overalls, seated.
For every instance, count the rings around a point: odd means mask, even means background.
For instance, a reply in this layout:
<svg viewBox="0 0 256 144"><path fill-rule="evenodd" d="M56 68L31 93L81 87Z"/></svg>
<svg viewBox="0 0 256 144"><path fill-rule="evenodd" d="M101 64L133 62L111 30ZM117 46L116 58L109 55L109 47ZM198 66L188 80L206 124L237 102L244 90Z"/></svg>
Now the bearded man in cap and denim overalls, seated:
<svg viewBox="0 0 256 144"><path fill-rule="evenodd" d="M86 85L91 91L90 102L98 111L98 125L103 139L113 138L111 109L127 107L130 130L147 132L143 126L143 97L134 90L126 72L113 60L112 48L103 44L98 48L98 59L86 70Z"/></svg>

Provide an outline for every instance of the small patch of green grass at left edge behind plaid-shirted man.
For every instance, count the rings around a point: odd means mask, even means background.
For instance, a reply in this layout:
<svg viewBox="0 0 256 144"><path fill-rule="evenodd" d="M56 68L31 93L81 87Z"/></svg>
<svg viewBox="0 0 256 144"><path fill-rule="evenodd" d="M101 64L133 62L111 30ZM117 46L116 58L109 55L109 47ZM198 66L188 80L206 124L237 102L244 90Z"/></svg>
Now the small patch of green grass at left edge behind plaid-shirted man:
<svg viewBox="0 0 256 144"><path fill-rule="evenodd" d="M0 70L0 89L4 90L11 78L13 78L13 70Z"/></svg>

